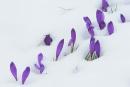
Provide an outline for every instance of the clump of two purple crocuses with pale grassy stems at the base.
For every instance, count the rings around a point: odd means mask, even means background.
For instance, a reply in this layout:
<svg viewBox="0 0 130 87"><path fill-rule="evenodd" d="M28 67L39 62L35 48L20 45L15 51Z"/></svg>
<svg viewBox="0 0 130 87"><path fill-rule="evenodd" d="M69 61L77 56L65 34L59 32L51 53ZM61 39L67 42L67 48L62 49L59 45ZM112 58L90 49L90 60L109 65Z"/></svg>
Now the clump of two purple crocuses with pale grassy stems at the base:
<svg viewBox="0 0 130 87"><path fill-rule="evenodd" d="M89 45L89 53L86 56L87 61L92 61L94 59L97 59L100 57L100 42L99 40L95 41L94 37L91 37L90 39L90 45Z"/></svg>

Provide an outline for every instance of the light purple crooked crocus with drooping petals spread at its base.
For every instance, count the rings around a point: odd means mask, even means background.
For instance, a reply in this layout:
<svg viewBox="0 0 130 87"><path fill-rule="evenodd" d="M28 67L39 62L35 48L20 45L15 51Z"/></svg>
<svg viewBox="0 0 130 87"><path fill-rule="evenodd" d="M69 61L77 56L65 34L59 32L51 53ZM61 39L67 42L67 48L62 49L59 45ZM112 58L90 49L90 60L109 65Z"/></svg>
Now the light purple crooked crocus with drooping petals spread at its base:
<svg viewBox="0 0 130 87"><path fill-rule="evenodd" d="M35 64L35 67L40 71L41 74L43 73L43 71L45 69L45 66L41 62L42 60L43 60L43 54L39 53L38 54L38 64Z"/></svg>

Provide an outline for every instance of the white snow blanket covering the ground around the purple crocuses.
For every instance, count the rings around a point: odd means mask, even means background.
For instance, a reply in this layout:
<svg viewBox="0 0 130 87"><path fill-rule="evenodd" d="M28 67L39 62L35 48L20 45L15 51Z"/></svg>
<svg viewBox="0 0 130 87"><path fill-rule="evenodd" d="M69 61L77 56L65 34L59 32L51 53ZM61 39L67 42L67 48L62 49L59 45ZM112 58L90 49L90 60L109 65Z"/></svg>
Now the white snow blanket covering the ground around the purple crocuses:
<svg viewBox="0 0 130 87"><path fill-rule="evenodd" d="M31 67L31 74L23 87L129 87L130 86L130 1L109 0L113 13L105 13L105 21L113 21L115 32L100 31L96 21L99 0L1 0L0 1L0 86L20 87L22 72ZM111 9L110 7L110 9ZM127 19L120 22L120 13ZM96 39L101 43L101 57L85 61L90 36L83 17L88 16L95 26ZM72 54L67 43L75 28L77 41ZM51 46L41 44L44 35L53 37ZM59 61L55 62L58 42L65 39ZM45 71L38 74L33 64L38 53L44 55ZM68 54L67 56L64 56ZM12 77L9 64L18 69L18 82Z"/></svg>

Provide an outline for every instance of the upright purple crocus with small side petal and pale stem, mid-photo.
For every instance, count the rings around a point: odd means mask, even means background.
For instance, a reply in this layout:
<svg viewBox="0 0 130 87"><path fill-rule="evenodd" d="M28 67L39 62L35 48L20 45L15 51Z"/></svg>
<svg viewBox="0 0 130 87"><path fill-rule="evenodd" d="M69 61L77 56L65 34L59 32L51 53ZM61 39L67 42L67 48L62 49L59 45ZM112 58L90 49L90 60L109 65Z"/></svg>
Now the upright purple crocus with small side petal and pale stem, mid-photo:
<svg viewBox="0 0 130 87"><path fill-rule="evenodd" d="M75 31L74 28L72 28L72 30L71 30L71 39L69 40L69 43L68 43L68 46L72 46L71 47L71 53L74 50L75 41L76 41L76 31Z"/></svg>

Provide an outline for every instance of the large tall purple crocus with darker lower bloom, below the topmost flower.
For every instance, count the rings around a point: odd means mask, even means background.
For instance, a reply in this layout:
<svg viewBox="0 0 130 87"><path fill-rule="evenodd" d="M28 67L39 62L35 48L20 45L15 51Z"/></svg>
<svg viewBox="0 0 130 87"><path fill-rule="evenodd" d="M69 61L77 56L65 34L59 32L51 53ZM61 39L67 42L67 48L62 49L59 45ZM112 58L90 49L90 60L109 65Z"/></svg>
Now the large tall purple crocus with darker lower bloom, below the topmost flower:
<svg viewBox="0 0 130 87"><path fill-rule="evenodd" d="M106 23L104 22L104 19L105 19L104 13L100 10L97 10L96 11L96 18L97 18L97 22L98 22L100 29L101 30L104 29L106 26Z"/></svg>

